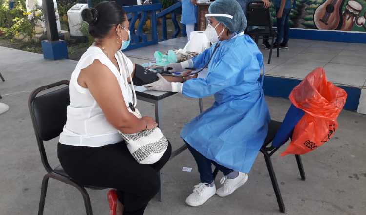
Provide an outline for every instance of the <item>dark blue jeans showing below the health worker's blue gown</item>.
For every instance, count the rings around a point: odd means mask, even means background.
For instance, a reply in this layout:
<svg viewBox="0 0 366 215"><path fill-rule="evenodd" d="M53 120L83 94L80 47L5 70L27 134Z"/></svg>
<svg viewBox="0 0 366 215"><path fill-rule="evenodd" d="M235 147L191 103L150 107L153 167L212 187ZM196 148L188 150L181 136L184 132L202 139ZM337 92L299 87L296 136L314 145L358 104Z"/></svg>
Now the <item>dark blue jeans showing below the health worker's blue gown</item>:
<svg viewBox="0 0 366 215"><path fill-rule="evenodd" d="M200 179L202 183L211 184L214 181L213 172L212 172L212 164L215 165L224 175L228 175L234 170L226 168L217 164L215 161L207 159L203 156L200 152L196 151L193 147L191 147L187 142L185 144L188 147L188 150L193 155L194 159L196 160L198 172L200 172Z"/></svg>

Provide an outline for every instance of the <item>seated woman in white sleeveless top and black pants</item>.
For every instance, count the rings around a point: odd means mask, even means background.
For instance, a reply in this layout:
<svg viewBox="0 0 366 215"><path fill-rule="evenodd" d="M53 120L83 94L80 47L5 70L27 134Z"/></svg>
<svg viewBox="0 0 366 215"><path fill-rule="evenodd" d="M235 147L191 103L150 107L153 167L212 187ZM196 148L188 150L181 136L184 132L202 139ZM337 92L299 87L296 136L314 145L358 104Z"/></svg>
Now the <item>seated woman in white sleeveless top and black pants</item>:
<svg viewBox="0 0 366 215"><path fill-rule="evenodd" d="M118 132L131 134L157 126L152 118L139 119L127 109L134 102L127 78L133 76L135 66L119 51L130 41L122 7L105 1L82 11L82 19L89 23L95 43L71 75L70 105L58 158L75 181L117 189L117 215L143 215L159 191L158 172L168 161L171 146L156 163L139 164Z"/></svg>

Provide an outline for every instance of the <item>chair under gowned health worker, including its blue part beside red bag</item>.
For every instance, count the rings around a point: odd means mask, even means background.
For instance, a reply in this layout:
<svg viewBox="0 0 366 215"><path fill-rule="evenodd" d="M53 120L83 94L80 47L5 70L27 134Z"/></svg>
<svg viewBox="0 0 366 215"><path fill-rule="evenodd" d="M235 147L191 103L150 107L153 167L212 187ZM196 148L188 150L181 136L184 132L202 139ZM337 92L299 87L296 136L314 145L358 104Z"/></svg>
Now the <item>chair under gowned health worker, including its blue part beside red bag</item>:
<svg viewBox="0 0 366 215"><path fill-rule="evenodd" d="M264 160L267 165L268 173L271 178L273 190L276 194L278 207L280 212L285 213L285 205L282 199L282 195L280 192L280 187L277 183L276 174L273 169L271 156L289 139L292 135L292 130L296 123L301 119L304 115L304 112L295 106L291 105L289 108L284 122L278 122L275 120L271 120L268 124L268 133L267 137L264 140L264 143L259 151L264 155ZM276 143L273 141L276 139ZM305 181L305 172L303 168L303 163L301 162L300 155L295 155L296 163L299 168L301 180ZM215 168L214 177L217 176L219 169Z"/></svg>

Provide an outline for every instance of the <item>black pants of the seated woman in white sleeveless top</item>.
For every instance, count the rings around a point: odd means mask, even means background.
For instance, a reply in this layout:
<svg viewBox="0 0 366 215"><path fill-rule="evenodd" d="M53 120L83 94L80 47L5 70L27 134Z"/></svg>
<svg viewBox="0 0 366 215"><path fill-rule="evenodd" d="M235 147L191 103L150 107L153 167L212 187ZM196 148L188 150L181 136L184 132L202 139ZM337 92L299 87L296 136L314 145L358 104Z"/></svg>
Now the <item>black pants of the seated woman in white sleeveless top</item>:
<svg viewBox="0 0 366 215"><path fill-rule="evenodd" d="M156 163L139 164L125 142L102 147L69 146L59 143L60 163L75 181L90 186L117 189L124 215L143 215L148 202L160 189L158 171L171 155L171 145Z"/></svg>

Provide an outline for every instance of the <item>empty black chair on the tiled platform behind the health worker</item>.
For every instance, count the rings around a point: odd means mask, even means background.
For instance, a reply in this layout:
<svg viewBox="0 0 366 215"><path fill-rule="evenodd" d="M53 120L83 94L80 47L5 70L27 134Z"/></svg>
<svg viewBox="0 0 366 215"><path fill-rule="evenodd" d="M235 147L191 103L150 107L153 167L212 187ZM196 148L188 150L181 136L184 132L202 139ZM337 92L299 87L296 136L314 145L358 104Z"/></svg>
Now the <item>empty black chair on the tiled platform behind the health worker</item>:
<svg viewBox="0 0 366 215"><path fill-rule="evenodd" d="M262 1L252 1L248 4L246 19L248 21L248 26L246 28L245 34L254 37L255 42L258 44L258 39L272 39L271 48L269 51L268 64L271 63L273 43L277 36L276 30L272 27L272 17L269 13L268 8L263 7ZM252 29L251 27L259 27ZM249 29L249 30L248 30ZM277 57L280 56L280 51L277 48Z"/></svg>

